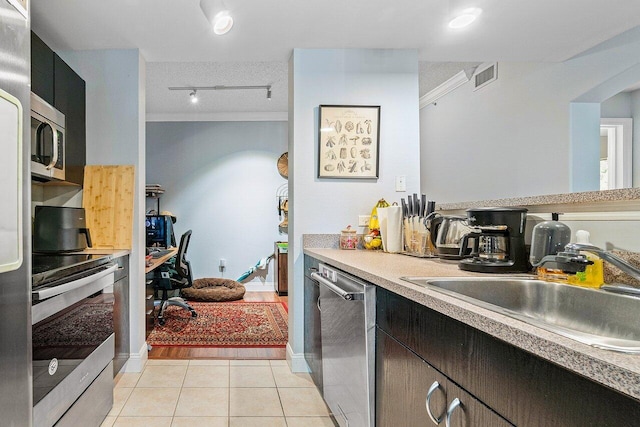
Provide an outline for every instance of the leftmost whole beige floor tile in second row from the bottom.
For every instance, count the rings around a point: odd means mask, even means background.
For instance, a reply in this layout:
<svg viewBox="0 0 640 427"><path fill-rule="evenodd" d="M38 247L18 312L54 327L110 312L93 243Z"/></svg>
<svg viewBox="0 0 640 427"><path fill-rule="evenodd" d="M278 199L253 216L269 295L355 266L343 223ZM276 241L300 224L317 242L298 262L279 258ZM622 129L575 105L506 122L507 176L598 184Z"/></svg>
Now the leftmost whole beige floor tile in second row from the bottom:
<svg viewBox="0 0 640 427"><path fill-rule="evenodd" d="M173 416L180 396L180 389L171 388L140 388L137 387L129 396L120 416ZM151 425L151 424L149 424Z"/></svg>

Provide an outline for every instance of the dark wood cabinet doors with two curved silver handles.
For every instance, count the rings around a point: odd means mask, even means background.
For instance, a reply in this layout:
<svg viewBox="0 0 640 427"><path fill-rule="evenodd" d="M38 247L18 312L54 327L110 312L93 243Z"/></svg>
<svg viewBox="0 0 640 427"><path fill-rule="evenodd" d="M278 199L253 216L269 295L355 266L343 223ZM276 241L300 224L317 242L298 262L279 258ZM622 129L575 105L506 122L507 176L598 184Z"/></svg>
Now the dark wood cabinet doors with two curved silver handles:
<svg viewBox="0 0 640 427"><path fill-rule="evenodd" d="M512 425L385 332L376 332L378 427L428 426L429 412L451 427Z"/></svg>

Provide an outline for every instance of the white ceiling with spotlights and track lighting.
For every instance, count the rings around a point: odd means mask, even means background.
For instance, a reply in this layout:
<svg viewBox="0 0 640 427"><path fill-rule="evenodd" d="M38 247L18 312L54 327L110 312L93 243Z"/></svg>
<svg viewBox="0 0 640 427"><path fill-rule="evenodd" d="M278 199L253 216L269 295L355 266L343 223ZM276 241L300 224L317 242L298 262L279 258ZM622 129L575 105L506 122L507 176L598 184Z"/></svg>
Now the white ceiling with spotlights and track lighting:
<svg viewBox="0 0 640 427"><path fill-rule="evenodd" d="M187 94L168 93L168 86L220 84L272 84L273 100L267 103L261 91L216 91L219 102L212 96L200 113L286 111L293 48L411 48L428 62L561 61L640 25L638 0L225 3L235 19L225 36L213 34L199 0L32 1L32 28L54 50L140 49L147 111L170 114L193 107L183 102ZM474 24L458 31L446 26L470 6L483 9ZM421 80L429 69L421 67ZM421 94L440 82L421 84Z"/></svg>

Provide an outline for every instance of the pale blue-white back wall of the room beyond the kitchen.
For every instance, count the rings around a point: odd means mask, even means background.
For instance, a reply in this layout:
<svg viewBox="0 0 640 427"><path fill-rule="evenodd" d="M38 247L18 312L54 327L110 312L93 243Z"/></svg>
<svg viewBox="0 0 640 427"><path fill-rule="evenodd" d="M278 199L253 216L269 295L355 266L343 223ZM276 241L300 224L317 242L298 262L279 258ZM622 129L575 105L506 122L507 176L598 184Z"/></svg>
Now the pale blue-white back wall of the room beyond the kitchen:
<svg viewBox="0 0 640 427"><path fill-rule="evenodd" d="M177 216L176 240L193 231L194 278L237 279L272 254L275 241L287 240L278 232L276 199L287 183L276 168L287 151L286 122L148 122L147 141L147 183L165 189L160 210ZM247 288L273 290L273 269L272 261Z"/></svg>

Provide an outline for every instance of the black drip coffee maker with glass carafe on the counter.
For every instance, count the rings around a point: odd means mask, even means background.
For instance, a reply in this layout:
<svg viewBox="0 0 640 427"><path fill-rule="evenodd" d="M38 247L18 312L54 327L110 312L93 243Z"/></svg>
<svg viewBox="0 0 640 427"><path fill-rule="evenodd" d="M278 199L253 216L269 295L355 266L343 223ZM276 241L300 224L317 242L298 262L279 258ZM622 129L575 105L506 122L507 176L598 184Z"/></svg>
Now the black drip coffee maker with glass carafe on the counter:
<svg viewBox="0 0 640 427"><path fill-rule="evenodd" d="M473 238L471 258L460 261L461 270L479 273L526 273L529 271L524 246L525 208L467 209L467 234L460 250Z"/></svg>

